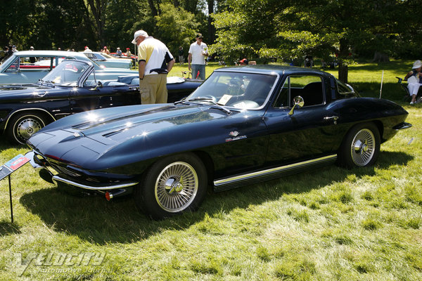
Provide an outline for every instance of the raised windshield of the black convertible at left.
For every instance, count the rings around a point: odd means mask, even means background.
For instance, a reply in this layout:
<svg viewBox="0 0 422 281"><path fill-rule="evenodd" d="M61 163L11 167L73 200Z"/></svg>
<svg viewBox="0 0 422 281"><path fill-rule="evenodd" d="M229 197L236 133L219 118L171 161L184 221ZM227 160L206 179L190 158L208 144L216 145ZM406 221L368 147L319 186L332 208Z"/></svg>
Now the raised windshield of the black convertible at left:
<svg viewBox="0 0 422 281"><path fill-rule="evenodd" d="M60 86L77 86L79 77L89 69L90 65L76 60L64 60L54 70L47 74L42 81Z"/></svg>

